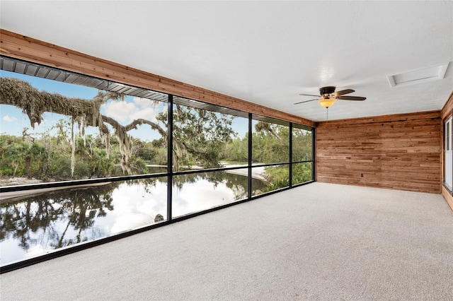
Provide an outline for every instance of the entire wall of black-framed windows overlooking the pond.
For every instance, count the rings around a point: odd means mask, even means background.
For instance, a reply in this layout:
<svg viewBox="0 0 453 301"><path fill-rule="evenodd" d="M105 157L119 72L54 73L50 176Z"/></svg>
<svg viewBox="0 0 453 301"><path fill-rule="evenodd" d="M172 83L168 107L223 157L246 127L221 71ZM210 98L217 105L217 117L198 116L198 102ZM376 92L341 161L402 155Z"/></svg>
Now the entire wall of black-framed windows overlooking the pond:
<svg viewBox="0 0 453 301"><path fill-rule="evenodd" d="M311 182L311 128L1 57L1 266Z"/></svg>

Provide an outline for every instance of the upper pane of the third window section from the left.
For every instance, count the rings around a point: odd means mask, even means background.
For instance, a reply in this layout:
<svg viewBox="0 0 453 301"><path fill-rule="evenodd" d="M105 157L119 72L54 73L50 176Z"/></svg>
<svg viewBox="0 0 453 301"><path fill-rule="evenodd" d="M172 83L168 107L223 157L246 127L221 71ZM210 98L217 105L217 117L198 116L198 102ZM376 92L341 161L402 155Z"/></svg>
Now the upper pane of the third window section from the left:
<svg viewBox="0 0 453 301"><path fill-rule="evenodd" d="M253 163L289 162L289 126L275 119L263 120L252 121Z"/></svg>

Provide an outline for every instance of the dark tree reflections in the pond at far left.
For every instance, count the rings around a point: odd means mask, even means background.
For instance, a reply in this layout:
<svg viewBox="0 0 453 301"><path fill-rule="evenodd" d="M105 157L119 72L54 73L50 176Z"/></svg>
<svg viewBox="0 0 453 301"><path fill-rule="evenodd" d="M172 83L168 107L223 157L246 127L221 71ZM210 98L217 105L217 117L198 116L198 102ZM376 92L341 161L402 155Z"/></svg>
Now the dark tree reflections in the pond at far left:
<svg viewBox="0 0 453 301"><path fill-rule="evenodd" d="M0 207L0 240L17 237L26 250L37 243L57 249L101 237L95 218L113 211L112 193L118 185L64 189L5 201ZM67 220L64 230L58 226L62 220ZM66 237L69 228L78 230L76 237ZM37 235L46 239L37 242Z"/></svg>

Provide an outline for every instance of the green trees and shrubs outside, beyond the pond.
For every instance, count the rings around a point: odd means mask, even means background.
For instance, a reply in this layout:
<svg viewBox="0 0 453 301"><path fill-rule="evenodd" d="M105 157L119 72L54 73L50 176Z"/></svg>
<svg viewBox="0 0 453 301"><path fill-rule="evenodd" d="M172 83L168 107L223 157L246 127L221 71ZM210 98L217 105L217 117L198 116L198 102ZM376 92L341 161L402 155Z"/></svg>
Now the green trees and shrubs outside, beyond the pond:
<svg viewBox="0 0 453 301"><path fill-rule="evenodd" d="M42 122L44 112L69 117L44 133L28 134L25 128L22 137L1 134L0 175L46 181L84 179L148 173L147 165L167 165L168 112L157 114L154 121L134 119L122 125L101 114L101 105L109 100L123 101L125 95L100 90L91 100L67 98L39 91L16 78L0 79L0 104L23 110L32 127ZM190 169L193 165L220 167L221 160L248 162L248 134L238 137L232 129L233 119L227 114L173 105L173 170ZM131 136L130 131L140 125L150 126L160 138L142 141ZM311 160L310 131L295 128L289 133L289 126L268 122L256 122L254 127L253 163L288 162L290 134L293 136L292 159ZM87 129L94 128L98 129L98 134L86 134ZM309 170L311 172L311 167ZM287 173L277 172L273 167L266 172L277 187L287 185ZM300 175L297 182L311 177L307 170L294 175Z"/></svg>

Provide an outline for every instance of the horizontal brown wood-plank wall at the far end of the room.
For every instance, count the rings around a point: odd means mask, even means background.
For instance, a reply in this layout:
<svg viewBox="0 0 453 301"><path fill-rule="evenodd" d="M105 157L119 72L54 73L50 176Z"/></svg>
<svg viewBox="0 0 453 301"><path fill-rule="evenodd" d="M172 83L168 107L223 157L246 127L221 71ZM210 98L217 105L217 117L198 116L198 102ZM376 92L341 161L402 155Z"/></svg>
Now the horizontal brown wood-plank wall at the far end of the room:
<svg viewBox="0 0 453 301"><path fill-rule="evenodd" d="M440 194L441 123L440 111L320 122L316 180Z"/></svg>

